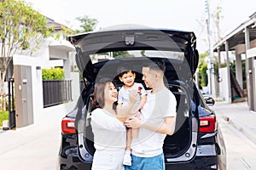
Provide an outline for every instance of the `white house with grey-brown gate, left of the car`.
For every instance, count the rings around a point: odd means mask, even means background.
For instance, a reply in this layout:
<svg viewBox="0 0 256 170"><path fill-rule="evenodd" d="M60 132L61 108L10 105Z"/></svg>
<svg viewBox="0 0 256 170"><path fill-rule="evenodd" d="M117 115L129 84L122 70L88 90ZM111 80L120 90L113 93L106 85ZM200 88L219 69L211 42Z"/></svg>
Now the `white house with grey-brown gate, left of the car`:
<svg viewBox="0 0 256 170"><path fill-rule="evenodd" d="M32 55L24 51L21 55L14 54L12 64L9 66L11 77L14 72L15 78L15 124L16 127L24 127L34 122L40 122L45 117L53 114L65 115L72 111L79 99L80 84L79 73L71 71L75 49L70 42L66 41L66 35L61 33L62 25L47 18L48 26L54 26L55 34L60 38L49 37L40 43L40 48ZM61 67L65 72L64 85L57 85L58 90L49 92L55 98L59 88L61 94L68 99L65 104L45 107L44 83L42 69ZM9 79L7 77L7 80ZM48 100L48 98L46 99ZM51 114L51 115L50 115ZM14 121L10 121L14 122Z"/></svg>

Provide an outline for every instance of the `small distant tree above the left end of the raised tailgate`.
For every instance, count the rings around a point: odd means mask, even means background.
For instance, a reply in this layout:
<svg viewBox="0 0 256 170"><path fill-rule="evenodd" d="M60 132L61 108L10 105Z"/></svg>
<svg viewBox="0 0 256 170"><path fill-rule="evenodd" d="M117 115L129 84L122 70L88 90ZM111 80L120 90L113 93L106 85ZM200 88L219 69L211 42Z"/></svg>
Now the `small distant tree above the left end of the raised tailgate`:
<svg viewBox="0 0 256 170"><path fill-rule="evenodd" d="M76 18L80 22L80 29L76 30L76 33L94 31L98 21L96 19L90 19L87 15Z"/></svg>

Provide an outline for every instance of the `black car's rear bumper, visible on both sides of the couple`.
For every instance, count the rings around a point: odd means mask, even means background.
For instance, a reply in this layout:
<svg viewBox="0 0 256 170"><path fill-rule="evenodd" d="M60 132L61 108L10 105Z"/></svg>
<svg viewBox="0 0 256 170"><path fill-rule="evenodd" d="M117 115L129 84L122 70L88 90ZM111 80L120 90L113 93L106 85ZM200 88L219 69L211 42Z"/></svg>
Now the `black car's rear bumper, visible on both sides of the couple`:
<svg viewBox="0 0 256 170"><path fill-rule="evenodd" d="M66 147L61 147L61 151L58 156L57 170L67 169L91 169L91 163L85 163L79 159L78 149L75 146L74 139L62 140L68 141L64 144ZM72 146L73 145L73 146ZM69 147L67 147L69 146ZM209 150L209 146L213 149ZM226 169L225 164L225 152L219 152L215 148L216 144L201 145L198 147L197 154L190 161L180 162L166 162L166 170L212 170L212 169ZM199 150L200 148L200 150ZM218 147L219 148L219 147ZM216 151L215 151L216 150ZM218 155L219 154L219 155Z"/></svg>

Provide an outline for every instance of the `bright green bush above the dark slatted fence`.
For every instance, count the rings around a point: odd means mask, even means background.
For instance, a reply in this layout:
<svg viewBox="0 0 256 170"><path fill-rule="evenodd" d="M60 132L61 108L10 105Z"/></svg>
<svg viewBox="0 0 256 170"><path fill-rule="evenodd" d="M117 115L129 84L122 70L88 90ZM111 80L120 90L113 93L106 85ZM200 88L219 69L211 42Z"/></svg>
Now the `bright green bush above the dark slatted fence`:
<svg viewBox="0 0 256 170"><path fill-rule="evenodd" d="M42 70L43 80L64 80L64 70L62 68L50 68Z"/></svg>

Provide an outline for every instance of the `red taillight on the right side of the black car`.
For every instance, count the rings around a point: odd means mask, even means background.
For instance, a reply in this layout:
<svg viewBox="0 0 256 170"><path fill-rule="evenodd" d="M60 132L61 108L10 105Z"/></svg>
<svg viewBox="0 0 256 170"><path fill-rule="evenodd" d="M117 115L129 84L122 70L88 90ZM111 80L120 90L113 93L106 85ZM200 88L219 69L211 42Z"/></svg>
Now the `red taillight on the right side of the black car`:
<svg viewBox="0 0 256 170"><path fill-rule="evenodd" d="M199 132L201 133L213 133L216 131L217 122L216 116L205 116L200 119Z"/></svg>

